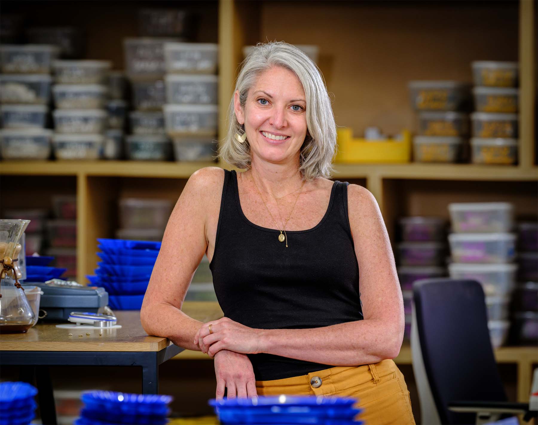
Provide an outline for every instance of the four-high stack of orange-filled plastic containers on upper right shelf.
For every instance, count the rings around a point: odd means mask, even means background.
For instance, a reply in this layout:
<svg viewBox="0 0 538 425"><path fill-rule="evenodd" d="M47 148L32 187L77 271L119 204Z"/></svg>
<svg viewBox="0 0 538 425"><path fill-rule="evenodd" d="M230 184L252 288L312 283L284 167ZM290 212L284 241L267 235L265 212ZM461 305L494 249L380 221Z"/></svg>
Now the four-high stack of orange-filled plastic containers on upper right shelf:
<svg viewBox="0 0 538 425"><path fill-rule="evenodd" d="M518 161L518 62L472 62L475 113L471 114L471 161L512 165Z"/></svg>

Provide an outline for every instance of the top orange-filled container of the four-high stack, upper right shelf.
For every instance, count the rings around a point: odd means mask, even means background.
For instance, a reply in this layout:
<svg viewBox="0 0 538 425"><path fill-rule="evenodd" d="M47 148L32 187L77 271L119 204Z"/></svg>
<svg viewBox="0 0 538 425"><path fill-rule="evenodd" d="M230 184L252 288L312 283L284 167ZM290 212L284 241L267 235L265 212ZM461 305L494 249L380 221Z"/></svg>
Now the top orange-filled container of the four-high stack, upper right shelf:
<svg viewBox="0 0 538 425"><path fill-rule="evenodd" d="M471 62L475 85L489 87L518 87L518 62L475 61Z"/></svg>

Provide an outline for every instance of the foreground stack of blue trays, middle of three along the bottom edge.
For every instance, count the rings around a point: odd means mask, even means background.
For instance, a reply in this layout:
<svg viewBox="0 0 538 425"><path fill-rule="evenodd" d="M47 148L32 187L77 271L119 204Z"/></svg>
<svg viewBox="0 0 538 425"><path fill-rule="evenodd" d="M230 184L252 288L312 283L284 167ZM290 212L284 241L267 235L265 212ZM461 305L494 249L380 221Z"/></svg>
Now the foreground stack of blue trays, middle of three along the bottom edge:
<svg viewBox="0 0 538 425"><path fill-rule="evenodd" d="M84 406L74 425L164 425L170 413L170 395L128 394L112 391L82 393Z"/></svg>

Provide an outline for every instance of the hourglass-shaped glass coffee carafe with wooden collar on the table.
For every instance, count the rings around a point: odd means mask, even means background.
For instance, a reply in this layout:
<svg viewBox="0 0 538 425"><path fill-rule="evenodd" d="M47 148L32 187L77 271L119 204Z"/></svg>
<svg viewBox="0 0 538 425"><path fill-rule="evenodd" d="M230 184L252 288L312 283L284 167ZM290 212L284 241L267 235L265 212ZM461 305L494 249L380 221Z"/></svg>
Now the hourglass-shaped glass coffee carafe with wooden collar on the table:
<svg viewBox="0 0 538 425"><path fill-rule="evenodd" d="M36 319L24 290L17 262L21 252L20 236L30 220L0 220L0 333L23 333Z"/></svg>

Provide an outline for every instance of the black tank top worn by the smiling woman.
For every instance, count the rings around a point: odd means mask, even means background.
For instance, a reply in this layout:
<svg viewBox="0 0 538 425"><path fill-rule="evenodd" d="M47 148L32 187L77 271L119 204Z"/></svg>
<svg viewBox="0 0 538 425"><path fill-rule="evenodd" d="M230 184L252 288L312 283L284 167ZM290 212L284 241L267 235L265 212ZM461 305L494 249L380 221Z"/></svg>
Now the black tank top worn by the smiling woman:
<svg viewBox="0 0 538 425"><path fill-rule="evenodd" d="M210 269L224 315L258 329L307 329L363 319L348 219L348 183L334 182L327 212L308 230L257 226L241 209L237 174L224 171ZM310 348L311 349L311 348ZM249 355L256 380L305 375L330 364Z"/></svg>

